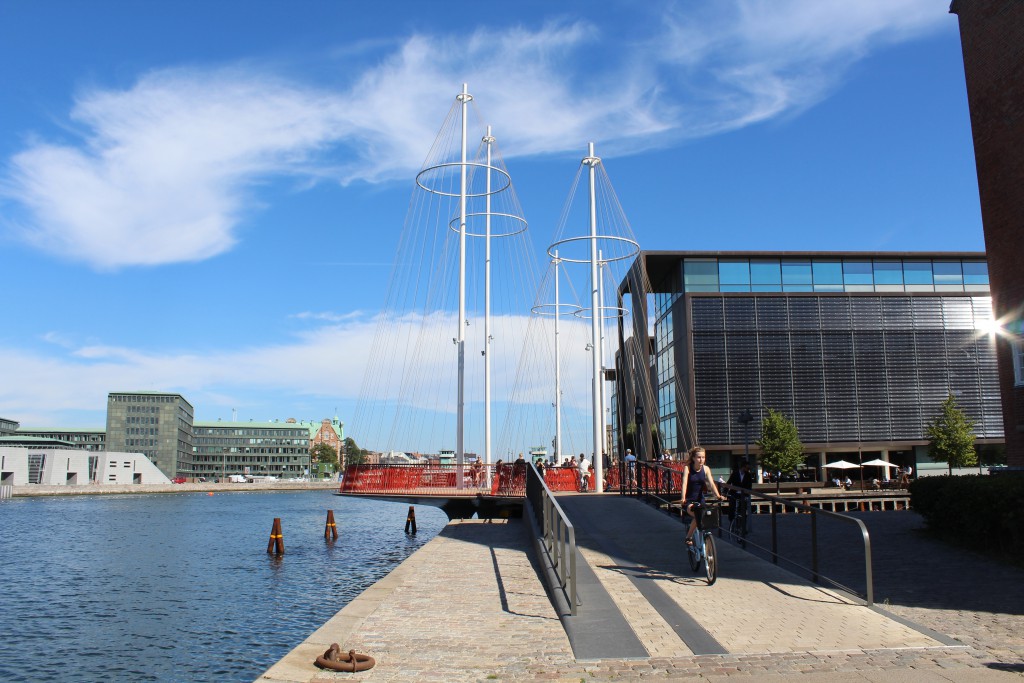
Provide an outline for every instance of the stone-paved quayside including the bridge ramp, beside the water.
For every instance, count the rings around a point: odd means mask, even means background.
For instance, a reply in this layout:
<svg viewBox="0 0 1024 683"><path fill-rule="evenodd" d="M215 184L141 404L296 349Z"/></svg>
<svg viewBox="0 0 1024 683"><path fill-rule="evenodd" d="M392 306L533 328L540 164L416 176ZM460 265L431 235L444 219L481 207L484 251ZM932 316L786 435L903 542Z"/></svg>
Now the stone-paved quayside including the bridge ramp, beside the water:
<svg viewBox="0 0 1024 683"><path fill-rule="evenodd" d="M567 617L569 631L586 641L587 620L600 615L615 636L604 653L581 652L586 642L566 636L539 579L528 524L473 520L449 524L260 680L1024 675L1024 571L928 540L912 512L860 515L871 531L876 596L888 603L876 610L726 543L721 577L709 587L683 564L677 519L614 495L560 501L593 577L580 616ZM617 653L631 639L642 651ZM372 654L377 666L361 674L317 670L313 660L332 642Z"/></svg>

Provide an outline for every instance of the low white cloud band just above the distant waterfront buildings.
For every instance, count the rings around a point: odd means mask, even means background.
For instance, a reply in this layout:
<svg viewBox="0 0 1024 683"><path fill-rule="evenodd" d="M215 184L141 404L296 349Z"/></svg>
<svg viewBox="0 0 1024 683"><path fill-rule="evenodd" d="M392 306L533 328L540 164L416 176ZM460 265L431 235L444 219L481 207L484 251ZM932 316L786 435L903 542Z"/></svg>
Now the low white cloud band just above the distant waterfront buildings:
<svg viewBox="0 0 1024 683"><path fill-rule="evenodd" d="M317 314L312 319L318 317ZM417 400L436 404L432 402L436 396L431 392L455 373L455 351L450 340L451 329L455 327L453 315L406 315L391 321L386 341L380 338L378 317L355 312L328 317L336 322L310 329L288 342L202 354L101 343L73 345L73 340L53 334L47 337L58 341L57 352L0 346L0 367L5 369L4 381L0 383L0 416L14 420L37 416L44 421L59 422L61 415L73 412L101 414L108 392L122 390L177 391L206 411L210 407L203 403L209 400L218 405L251 408L246 396L267 392L359 399L374 405L393 401L395 396L409 397L415 389L414 393L420 396ZM525 330L527 323L523 316L495 317L494 330L506 331L504 339L501 333L495 334L499 337L497 343L504 344L501 353L508 356L495 366L496 395L512 393L518 347L510 348L509 344L519 343L522 335L517 331ZM586 328L582 323L577 327ZM474 326L470 331L467 347L473 356L479 357L479 349L483 347L482 327ZM568 329L563 333L567 334ZM381 361L382 344L390 344L388 348L393 350L400 345L396 341L400 339L416 341L408 350L415 358L385 359L385 366L401 364L400 372L393 375L382 372L362 384L365 370L374 362L375 353L377 362ZM584 343L577 346L579 351ZM471 374L479 375L479 364L471 365ZM567 361L564 372L568 378L585 374L587 369L585 359L580 359ZM538 389L529 386L520 387L520 393L525 400L548 400L539 397Z"/></svg>

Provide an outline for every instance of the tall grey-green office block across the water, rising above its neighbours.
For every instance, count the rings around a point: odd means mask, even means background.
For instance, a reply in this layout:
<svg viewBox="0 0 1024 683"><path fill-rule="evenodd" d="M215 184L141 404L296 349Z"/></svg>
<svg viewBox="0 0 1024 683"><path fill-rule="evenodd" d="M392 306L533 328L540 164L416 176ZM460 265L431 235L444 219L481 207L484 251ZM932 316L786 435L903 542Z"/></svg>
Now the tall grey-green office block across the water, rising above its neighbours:
<svg viewBox="0 0 1024 683"><path fill-rule="evenodd" d="M106 450L144 454L170 478L193 476L193 407L179 393L106 396Z"/></svg>

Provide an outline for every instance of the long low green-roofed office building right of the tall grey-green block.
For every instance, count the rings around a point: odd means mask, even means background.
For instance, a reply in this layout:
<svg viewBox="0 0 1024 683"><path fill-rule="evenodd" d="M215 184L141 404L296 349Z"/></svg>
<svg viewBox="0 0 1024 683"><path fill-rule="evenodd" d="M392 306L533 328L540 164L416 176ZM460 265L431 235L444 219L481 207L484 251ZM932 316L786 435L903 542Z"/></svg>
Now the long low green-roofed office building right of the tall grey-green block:
<svg viewBox="0 0 1024 683"><path fill-rule="evenodd" d="M197 422L189 477L309 474L309 429L292 422Z"/></svg>

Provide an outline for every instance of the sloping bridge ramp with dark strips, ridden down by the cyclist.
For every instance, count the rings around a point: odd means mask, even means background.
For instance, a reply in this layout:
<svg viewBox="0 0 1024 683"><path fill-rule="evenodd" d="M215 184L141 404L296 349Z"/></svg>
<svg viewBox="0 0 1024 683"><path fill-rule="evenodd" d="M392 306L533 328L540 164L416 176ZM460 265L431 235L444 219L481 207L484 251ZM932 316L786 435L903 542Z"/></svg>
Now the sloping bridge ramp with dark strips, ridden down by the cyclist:
<svg viewBox="0 0 1024 683"><path fill-rule="evenodd" d="M708 586L686 561L685 528L636 499L559 496L581 558L649 656L770 654L904 647L956 641L826 590L724 540L719 579ZM581 589L580 615L603 596ZM578 617L566 617L565 621ZM567 628L569 639L574 634ZM573 642L573 651L588 651Z"/></svg>

